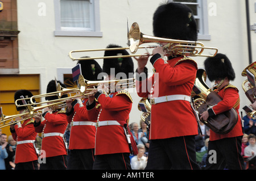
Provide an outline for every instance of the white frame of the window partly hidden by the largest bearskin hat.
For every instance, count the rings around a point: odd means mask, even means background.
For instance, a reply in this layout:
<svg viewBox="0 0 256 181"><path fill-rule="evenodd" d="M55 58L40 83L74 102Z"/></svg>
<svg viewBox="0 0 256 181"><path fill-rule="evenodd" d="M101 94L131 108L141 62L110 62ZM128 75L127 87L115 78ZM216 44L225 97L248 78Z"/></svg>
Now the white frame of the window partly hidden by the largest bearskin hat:
<svg viewBox="0 0 256 181"><path fill-rule="evenodd" d="M168 2L174 2L173 0L168 0ZM197 15L196 19L200 19L199 33L197 39L199 40L210 40L209 26L208 26L208 6L207 0L197 0L197 3L181 2L185 5L197 5Z"/></svg>

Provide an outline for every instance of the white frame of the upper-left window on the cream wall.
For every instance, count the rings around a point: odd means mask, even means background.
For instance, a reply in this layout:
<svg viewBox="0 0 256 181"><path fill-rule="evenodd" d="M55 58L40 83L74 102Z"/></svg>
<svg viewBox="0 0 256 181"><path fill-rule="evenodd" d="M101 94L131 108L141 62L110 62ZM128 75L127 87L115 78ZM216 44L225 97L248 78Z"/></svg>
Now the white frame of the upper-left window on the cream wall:
<svg viewBox="0 0 256 181"><path fill-rule="evenodd" d="M90 8L93 10L91 17L94 16L93 29L89 28L72 28L72 27L61 27L60 22L60 0L54 1L55 10L55 36L93 36L102 37L102 32L100 31L100 0L89 0Z"/></svg>

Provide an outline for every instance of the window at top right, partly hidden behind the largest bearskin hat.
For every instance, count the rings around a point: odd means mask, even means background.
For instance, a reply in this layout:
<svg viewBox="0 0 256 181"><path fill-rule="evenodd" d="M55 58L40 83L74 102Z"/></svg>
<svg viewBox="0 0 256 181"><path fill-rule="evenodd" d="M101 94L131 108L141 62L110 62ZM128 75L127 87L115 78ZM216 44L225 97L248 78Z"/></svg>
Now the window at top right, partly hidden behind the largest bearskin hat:
<svg viewBox="0 0 256 181"><path fill-rule="evenodd" d="M207 1L205 0L169 0L169 2L184 3L193 11L193 15L197 22L198 27L198 39L210 40L208 30L208 9Z"/></svg>

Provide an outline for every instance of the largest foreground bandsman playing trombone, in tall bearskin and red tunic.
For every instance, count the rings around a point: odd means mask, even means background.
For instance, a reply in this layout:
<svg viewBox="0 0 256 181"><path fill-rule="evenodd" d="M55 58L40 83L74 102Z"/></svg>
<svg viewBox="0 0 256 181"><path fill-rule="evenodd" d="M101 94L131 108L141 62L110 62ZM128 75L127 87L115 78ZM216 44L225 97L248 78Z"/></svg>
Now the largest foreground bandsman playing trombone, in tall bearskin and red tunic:
<svg viewBox="0 0 256 181"><path fill-rule="evenodd" d="M192 11L181 3L166 3L156 9L153 32L156 37L197 40ZM137 58L137 92L142 98L150 98L152 104L146 169L200 169L195 152L197 120L190 97L197 64L189 57L170 52L171 46L168 50L162 47L152 50L150 62L155 73L151 78L147 78L148 56ZM167 62L162 55L168 57ZM151 91L143 89L143 85L151 86Z"/></svg>

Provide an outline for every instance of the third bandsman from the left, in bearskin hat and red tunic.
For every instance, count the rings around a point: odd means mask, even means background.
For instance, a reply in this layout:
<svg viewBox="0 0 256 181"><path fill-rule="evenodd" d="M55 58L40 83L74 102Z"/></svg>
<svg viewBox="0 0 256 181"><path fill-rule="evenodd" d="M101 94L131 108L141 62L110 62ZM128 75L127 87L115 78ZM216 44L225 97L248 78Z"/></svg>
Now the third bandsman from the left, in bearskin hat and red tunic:
<svg viewBox="0 0 256 181"><path fill-rule="evenodd" d="M82 75L86 80L100 80L101 66L95 60L79 61ZM86 103L90 104L89 112L96 115L89 120ZM94 145L96 133L96 121L98 108L94 96L67 100L68 123L71 124L71 135L69 138L70 154L68 156L69 170L92 170L94 162ZM97 106L98 107L98 106Z"/></svg>

